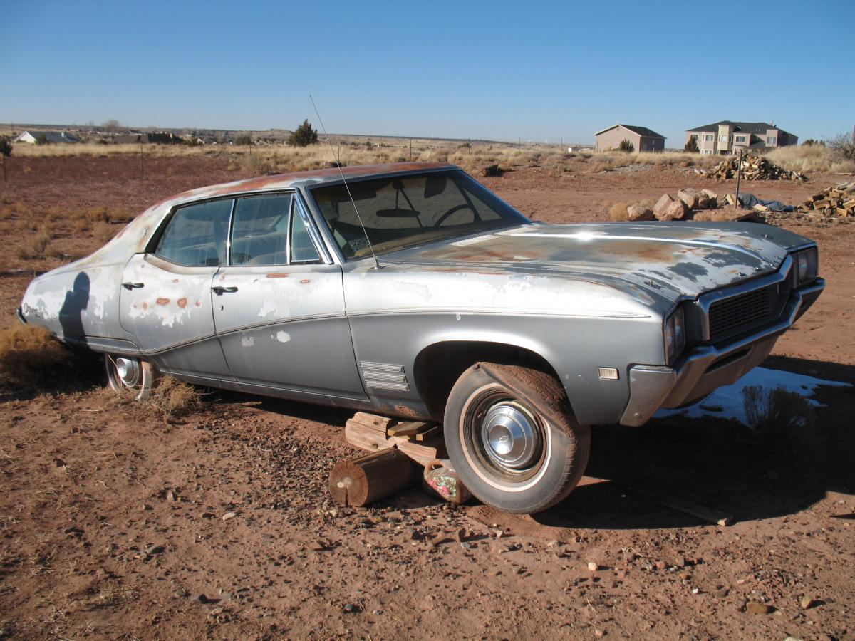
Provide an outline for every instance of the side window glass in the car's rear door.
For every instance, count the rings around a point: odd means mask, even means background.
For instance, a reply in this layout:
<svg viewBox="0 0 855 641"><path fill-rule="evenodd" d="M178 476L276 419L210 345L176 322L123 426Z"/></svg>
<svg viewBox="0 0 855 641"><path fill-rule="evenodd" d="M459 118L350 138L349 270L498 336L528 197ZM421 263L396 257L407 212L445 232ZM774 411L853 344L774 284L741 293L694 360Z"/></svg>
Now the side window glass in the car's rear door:
<svg viewBox="0 0 855 641"><path fill-rule="evenodd" d="M233 203L232 199L213 200L177 209L154 253L188 267L225 265Z"/></svg>

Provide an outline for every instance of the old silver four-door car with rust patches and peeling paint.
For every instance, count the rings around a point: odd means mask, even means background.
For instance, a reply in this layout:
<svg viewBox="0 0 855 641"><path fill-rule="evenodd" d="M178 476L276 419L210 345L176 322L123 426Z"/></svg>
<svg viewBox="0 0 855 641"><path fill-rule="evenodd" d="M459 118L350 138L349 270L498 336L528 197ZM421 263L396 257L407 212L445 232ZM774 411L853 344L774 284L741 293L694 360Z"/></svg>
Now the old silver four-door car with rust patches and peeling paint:
<svg viewBox="0 0 855 641"><path fill-rule="evenodd" d="M475 496L531 513L581 478L589 426L733 383L823 286L775 226L544 225L459 168L392 164L170 198L19 315L140 397L160 372L441 422Z"/></svg>

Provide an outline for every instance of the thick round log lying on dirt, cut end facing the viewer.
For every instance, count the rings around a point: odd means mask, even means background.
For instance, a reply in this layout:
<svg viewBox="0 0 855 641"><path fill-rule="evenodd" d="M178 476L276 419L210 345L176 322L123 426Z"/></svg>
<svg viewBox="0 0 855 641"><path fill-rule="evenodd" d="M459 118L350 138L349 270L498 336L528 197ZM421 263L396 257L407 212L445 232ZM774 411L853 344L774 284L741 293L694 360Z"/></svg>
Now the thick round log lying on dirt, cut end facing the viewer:
<svg viewBox="0 0 855 641"><path fill-rule="evenodd" d="M329 473L329 493L340 505L360 508L404 490L421 476L409 456L390 448L336 463Z"/></svg>

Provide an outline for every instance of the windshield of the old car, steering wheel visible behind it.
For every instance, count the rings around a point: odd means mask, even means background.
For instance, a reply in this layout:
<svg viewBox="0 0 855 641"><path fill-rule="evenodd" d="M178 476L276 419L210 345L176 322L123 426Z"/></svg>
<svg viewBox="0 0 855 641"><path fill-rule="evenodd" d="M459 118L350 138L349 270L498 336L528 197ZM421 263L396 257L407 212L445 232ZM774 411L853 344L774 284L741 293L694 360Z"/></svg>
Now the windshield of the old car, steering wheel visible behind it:
<svg viewBox="0 0 855 641"><path fill-rule="evenodd" d="M347 185L378 255L530 222L461 171L352 180ZM345 259L371 256L345 185L315 187L311 195Z"/></svg>

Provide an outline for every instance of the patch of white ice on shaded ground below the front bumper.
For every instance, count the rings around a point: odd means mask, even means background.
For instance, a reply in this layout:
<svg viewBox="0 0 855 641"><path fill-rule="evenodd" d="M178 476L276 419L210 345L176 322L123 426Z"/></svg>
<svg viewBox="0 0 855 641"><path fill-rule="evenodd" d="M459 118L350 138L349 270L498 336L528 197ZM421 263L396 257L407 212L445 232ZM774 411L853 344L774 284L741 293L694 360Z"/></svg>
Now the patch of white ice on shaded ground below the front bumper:
<svg viewBox="0 0 855 641"><path fill-rule="evenodd" d="M749 385L758 385L764 390L774 390L782 387L787 391L794 391L807 398L814 407L823 407L822 403L811 398L817 391L817 387L851 387L849 383L839 380L816 379L792 372L784 372L781 369L754 368L746 373L733 385L719 387L700 403L689 405L681 409L660 409L653 418L661 419L666 416L685 416L690 419L702 416L713 416L720 419L738 420L742 425L748 425L746 410L742 402L742 390Z"/></svg>

